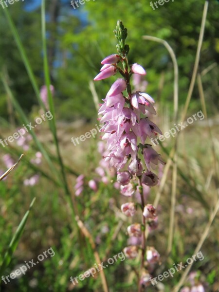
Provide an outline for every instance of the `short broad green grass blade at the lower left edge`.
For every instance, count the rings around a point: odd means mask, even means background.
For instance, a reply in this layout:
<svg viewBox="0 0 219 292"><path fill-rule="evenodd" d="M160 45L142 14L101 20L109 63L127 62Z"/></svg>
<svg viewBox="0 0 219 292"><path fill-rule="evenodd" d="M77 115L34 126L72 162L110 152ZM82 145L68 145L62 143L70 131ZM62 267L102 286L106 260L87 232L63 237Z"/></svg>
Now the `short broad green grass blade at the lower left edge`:
<svg viewBox="0 0 219 292"><path fill-rule="evenodd" d="M25 213L24 217L20 221L18 228L17 228L17 230L16 230L16 232L15 232L15 234L14 234L14 236L13 236L13 238L8 246L8 249L4 255L3 262L2 262L1 267L0 267L0 282L1 282L2 274L4 273L4 270L7 268L7 266L10 264L12 256L13 256L13 254L18 246L18 242L20 240L20 237L22 236L22 233L24 231L24 227L26 225L28 216L30 214L30 211L33 207L35 200L36 200L36 198L33 199L33 201L30 204L29 210Z"/></svg>

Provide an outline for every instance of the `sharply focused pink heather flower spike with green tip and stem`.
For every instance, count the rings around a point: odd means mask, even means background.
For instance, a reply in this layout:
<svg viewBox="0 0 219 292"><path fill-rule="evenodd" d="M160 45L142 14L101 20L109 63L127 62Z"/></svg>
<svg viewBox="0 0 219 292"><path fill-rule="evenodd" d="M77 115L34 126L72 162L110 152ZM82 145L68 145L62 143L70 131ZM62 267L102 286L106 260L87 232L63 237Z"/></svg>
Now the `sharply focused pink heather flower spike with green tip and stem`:
<svg viewBox="0 0 219 292"><path fill-rule="evenodd" d="M139 254L139 247L141 248L138 290L142 291L142 288L148 285L150 277L146 268L160 257L154 248L146 248L146 224L149 230L154 230L158 219L154 206L146 202L143 187L149 189L158 183L158 177L151 171L151 167L158 163L164 164L160 155L146 143L146 139L162 132L146 116L148 112L156 114L154 99L146 92L132 91L130 78L132 75L135 79L137 75L144 77L146 70L137 63L128 64L128 32L122 21L117 21L114 34L118 40L117 53L103 59L103 67L94 80L105 79L116 73L121 75L110 87L99 109L99 114L102 115L100 123L104 123L100 131L103 132L102 140L107 144L106 154L103 155L104 162L117 169L116 184L120 185L123 198L131 198L131 202L122 204L121 212L128 217L135 216L135 193L141 201L139 209L142 212L142 222L128 226L128 235L132 240L131 245L124 248L124 253L129 259L134 259Z"/></svg>

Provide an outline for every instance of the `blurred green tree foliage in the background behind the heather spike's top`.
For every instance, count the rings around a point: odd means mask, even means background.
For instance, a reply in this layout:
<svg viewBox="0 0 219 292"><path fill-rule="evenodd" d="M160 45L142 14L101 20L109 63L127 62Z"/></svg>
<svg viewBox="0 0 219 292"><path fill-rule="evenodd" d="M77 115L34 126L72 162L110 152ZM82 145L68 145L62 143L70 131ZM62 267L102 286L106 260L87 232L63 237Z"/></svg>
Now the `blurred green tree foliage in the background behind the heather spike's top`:
<svg viewBox="0 0 219 292"><path fill-rule="evenodd" d="M128 28L130 63L140 63L147 70L147 92L157 102L172 108L173 67L166 49L145 41L143 35L165 39L176 53L180 75L180 105L186 98L191 79L201 26L203 0L170 1L153 10L145 0L98 0L86 2L77 10L68 1L48 1L48 53L58 117L65 120L95 118L89 81L98 73L100 61L116 53L113 34L121 19ZM40 38L39 8L25 11L22 3L11 5L10 11L25 45L38 85L44 84ZM219 61L219 3L210 1L199 70ZM11 88L21 106L30 111L37 103L27 73L5 18L0 18L0 68L6 70ZM9 49L10 48L10 49ZM160 88L161 78L164 86ZM208 107L218 106L219 69L215 67L203 77ZM111 81L110 81L111 82ZM105 84L105 86L103 85ZM109 81L95 83L99 99L105 97ZM213 85L213 86L212 86ZM196 107L198 90L194 91L191 109ZM0 84L0 114L7 116L6 96ZM215 112L217 107L214 107Z"/></svg>

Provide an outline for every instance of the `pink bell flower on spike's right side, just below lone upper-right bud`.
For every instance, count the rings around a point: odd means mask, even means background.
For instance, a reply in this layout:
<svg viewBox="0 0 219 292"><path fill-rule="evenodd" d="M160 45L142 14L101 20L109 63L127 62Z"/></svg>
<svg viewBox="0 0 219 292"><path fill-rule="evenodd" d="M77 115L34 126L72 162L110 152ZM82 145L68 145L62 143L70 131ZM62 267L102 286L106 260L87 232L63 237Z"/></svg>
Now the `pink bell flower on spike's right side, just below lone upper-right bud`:
<svg viewBox="0 0 219 292"><path fill-rule="evenodd" d="M131 94L131 105L136 109L138 115L140 111L146 114L146 110L152 114L156 114L152 102L154 102L153 98L147 93L137 91Z"/></svg>

